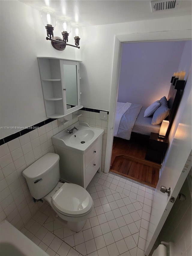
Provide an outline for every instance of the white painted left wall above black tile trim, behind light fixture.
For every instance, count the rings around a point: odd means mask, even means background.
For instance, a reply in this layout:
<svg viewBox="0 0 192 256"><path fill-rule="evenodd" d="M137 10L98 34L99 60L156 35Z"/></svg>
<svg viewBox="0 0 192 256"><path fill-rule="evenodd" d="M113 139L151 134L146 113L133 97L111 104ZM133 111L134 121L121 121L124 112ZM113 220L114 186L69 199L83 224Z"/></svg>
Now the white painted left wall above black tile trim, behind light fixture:
<svg viewBox="0 0 192 256"><path fill-rule="evenodd" d="M31 126L46 119L37 56L75 59L75 50L68 47L60 52L51 46L39 11L19 1L0 1L0 5L0 126ZM54 33L61 34L57 28ZM1 129L0 138L17 131Z"/></svg>

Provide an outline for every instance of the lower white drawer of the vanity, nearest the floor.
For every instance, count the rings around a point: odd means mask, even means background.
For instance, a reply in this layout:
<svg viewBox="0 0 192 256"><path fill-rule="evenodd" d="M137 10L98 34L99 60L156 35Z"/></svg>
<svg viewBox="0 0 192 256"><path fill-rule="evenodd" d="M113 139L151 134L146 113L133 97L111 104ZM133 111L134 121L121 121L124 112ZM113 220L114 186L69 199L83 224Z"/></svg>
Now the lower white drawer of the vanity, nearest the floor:
<svg viewBox="0 0 192 256"><path fill-rule="evenodd" d="M91 179L94 177L95 173L98 171L101 163L101 151L96 155L96 157L91 161L89 166L85 169L85 182L86 187L90 183Z"/></svg>

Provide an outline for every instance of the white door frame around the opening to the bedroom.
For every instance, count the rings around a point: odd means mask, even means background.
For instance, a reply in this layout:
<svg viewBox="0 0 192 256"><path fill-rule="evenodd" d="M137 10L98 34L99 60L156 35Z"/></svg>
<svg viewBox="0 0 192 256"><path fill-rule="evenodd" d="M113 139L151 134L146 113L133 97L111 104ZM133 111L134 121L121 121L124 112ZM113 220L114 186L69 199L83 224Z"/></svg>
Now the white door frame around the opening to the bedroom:
<svg viewBox="0 0 192 256"><path fill-rule="evenodd" d="M121 59L122 59L122 44L139 43L139 42L140 43L141 42L160 42L160 41L187 41L187 40L191 40L191 30L115 35L104 173L109 172L110 164L111 164L113 134L114 134L113 126L115 123L115 113L116 113L116 105L117 105L117 98L118 98L118 91L119 91L119 78L120 78Z"/></svg>

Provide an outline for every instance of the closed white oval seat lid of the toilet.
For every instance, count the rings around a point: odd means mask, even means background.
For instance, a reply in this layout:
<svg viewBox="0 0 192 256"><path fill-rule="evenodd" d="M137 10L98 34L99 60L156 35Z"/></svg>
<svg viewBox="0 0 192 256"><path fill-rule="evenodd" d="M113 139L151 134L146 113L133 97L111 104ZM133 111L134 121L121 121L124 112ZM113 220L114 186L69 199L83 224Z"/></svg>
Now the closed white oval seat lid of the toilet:
<svg viewBox="0 0 192 256"><path fill-rule="evenodd" d="M73 183L64 183L52 196L51 202L58 212L69 217L87 215L93 207L90 194Z"/></svg>

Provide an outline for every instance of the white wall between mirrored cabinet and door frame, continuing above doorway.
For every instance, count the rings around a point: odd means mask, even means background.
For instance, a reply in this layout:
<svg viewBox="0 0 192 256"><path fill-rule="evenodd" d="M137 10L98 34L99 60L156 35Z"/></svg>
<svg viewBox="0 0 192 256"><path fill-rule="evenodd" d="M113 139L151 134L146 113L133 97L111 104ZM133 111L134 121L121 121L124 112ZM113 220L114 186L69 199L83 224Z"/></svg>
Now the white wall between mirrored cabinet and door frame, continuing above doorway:
<svg viewBox="0 0 192 256"><path fill-rule="evenodd" d="M109 110L115 35L191 29L191 17L136 21L83 28L82 51L76 50L81 65L81 103Z"/></svg>

